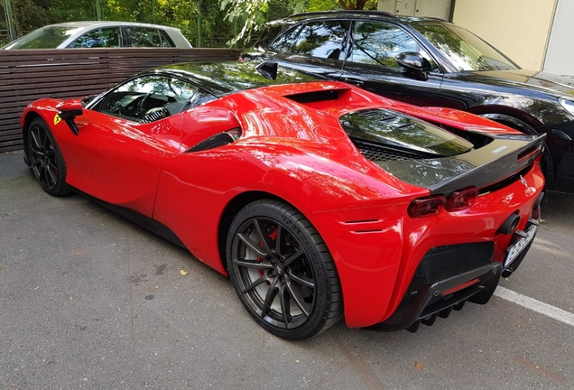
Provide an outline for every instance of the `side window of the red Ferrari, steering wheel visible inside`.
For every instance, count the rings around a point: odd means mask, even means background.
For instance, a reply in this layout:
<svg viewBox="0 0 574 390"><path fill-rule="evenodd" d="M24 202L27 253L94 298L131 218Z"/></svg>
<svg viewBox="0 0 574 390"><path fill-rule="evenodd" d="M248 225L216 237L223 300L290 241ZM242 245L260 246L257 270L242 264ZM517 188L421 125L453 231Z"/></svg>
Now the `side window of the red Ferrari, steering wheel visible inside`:
<svg viewBox="0 0 574 390"><path fill-rule="evenodd" d="M92 109L149 123L181 113L198 88L168 76L142 76L120 85Z"/></svg>

